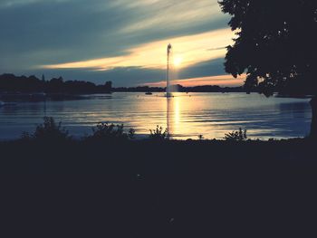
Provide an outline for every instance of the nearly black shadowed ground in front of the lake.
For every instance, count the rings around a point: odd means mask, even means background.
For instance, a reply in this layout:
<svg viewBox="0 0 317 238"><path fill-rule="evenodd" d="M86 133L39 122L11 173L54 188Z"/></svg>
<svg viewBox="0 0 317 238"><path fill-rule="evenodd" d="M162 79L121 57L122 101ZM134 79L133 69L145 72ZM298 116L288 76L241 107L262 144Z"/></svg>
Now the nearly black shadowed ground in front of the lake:
<svg viewBox="0 0 317 238"><path fill-rule="evenodd" d="M316 237L316 142L0 143L1 237Z"/></svg>

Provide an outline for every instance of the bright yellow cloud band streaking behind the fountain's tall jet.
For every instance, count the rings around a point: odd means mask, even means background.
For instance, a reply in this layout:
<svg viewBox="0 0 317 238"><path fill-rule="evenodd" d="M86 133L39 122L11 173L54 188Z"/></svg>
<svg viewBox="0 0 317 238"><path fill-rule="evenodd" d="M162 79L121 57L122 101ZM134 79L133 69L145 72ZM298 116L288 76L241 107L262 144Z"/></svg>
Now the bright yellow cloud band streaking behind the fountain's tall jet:
<svg viewBox="0 0 317 238"><path fill-rule="evenodd" d="M230 29L221 29L207 33L199 33L171 38L152 43L146 43L131 48L127 55L106 57L82 62L65 62L51 65L41 65L42 69L91 69L108 71L117 67L141 67L148 69L166 68L166 47L168 43L174 46L174 57L181 59L179 68L185 68L198 62L206 62L224 57L224 46L232 43L233 33ZM210 48L213 51L210 51Z"/></svg>

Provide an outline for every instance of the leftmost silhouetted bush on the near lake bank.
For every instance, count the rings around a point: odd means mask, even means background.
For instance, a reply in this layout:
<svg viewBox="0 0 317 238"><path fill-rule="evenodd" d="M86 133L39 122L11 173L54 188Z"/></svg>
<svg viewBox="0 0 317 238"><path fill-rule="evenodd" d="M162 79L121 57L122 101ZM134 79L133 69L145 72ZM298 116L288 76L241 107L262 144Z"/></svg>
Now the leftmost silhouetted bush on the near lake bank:
<svg viewBox="0 0 317 238"><path fill-rule="evenodd" d="M43 124L36 127L34 134L24 132L22 134L22 139L64 141L71 139L71 137L69 136L68 131L62 128L62 122L56 123L53 118L44 117Z"/></svg>

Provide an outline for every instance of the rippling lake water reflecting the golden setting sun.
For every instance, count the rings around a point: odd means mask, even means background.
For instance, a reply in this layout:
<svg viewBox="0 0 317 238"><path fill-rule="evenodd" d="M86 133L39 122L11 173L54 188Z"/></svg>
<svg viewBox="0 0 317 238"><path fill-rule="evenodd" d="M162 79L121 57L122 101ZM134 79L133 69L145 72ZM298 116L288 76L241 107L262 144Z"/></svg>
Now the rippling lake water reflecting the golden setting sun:
<svg viewBox="0 0 317 238"><path fill-rule="evenodd" d="M265 98L257 93L113 93L87 100L20 102L0 108L0 139L32 132L44 116L62 121L75 137L91 133L98 122L124 124L140 137L157 125L173 138L224 138L247 129L249 138L295 138L308 135L312 112L307 99Z"/></svg>

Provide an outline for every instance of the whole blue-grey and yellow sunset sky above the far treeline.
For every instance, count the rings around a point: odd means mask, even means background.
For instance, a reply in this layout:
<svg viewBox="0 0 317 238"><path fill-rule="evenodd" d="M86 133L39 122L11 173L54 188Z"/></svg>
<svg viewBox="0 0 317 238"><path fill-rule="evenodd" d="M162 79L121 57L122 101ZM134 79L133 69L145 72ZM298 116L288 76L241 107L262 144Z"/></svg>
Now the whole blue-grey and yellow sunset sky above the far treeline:
<svg viewBox="0 0 317 238"><path fill-rule="evenodd" d="M217 0L1 0L0 73L164 86L168 43L183 86L241 85Z"/></svg>

